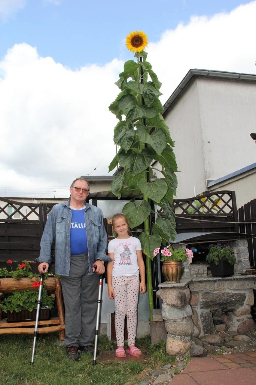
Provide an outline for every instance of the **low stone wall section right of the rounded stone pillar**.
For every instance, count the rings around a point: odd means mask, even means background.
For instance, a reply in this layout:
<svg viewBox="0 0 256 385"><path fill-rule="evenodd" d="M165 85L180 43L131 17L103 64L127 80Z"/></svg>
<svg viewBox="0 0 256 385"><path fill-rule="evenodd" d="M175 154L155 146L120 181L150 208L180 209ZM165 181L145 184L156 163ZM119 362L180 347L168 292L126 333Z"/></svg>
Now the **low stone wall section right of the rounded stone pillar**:
<svg viewBox="0 0 256 385"><path fill-rule="evenodd" d="M254 304L255 280L254 276L193 279L188 287L192 320L198 336L225 331L226 328L239 334L253 331L251 306Z"/></svg>

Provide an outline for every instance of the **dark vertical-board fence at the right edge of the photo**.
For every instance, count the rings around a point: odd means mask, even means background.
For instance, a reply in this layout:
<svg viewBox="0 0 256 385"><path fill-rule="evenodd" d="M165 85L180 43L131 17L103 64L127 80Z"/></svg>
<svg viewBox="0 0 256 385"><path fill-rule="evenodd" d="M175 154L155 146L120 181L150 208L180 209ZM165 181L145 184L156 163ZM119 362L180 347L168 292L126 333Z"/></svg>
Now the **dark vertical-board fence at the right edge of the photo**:
<svg viewBox="0 0 256 385"><path fill-rule="evenodd" d="M256 199L244 204L238 209L238 220L241 233L256 234ZM249 261L256 268L256 238L248 239Z"/></svg>

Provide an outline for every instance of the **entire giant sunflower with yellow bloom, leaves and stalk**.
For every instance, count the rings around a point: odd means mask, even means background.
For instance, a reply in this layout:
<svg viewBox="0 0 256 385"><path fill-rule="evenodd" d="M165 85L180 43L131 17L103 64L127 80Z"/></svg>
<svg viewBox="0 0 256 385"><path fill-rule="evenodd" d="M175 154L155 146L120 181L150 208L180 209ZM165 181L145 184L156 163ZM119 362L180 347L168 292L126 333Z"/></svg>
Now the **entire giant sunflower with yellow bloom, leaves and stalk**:
<svg viewBox="0 0 256 385"><path fill-rule="evenodd" d="M118 198L132 193L135 197L123 208L130 223L135 228L144 223L144 232L139 239L146 256L149 313L152 320L153 289L152 261L154 250L161 244L169 243L176 236L176 225L172 207L176 194L177 164L172 147L169 128L162 117L163 106L159 100L161 83L146 60L147 36L142 32L132 32L127 36L127 48L135 52L137 61L124 63L124 71L119 74L116 85L121 92L109 106L119 122L114 129L114 142L120 147L112 160L109 171L120 165L111 191ZM150 80L148 80L150 78ZM123 120L123 117L125 119ZM153 179L151 164L160 164L160 177ZM162 168L161 168L162 167ZM139 202L138 202L139 200ZM157 205L159 215L152 223L151 202Z"/></svg>

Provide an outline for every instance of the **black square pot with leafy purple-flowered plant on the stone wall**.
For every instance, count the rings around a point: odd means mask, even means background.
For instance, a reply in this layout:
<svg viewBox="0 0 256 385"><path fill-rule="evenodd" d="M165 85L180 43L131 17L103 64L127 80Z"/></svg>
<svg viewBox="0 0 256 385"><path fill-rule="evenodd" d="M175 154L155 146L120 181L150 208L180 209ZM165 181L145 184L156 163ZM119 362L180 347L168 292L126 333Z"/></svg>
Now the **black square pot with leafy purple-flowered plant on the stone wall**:
<svg viewBox="0 0 256 385"><path fill-rule="evenodd" d="M236 258L229 244L210 244L206 261L210 263L213 277L230 277L234 274Z"/></svg>

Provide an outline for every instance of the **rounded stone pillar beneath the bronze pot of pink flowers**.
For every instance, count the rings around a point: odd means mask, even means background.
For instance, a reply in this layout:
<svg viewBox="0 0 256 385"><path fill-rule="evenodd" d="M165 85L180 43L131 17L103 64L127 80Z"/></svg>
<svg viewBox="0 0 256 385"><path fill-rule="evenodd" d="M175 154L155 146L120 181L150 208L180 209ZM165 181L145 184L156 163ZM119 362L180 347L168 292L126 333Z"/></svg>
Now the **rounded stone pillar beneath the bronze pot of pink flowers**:
<svg viewBox="0 0 256 385"><path fill-rule="evenodd" d="M194 325L188 288L190 281L192 278L182 278L179 283L164 282L157 291L157 296L163 301L162 317L167 330L168 355L184 355L191 348Z"/></svg>

